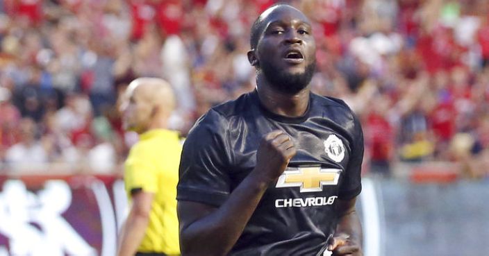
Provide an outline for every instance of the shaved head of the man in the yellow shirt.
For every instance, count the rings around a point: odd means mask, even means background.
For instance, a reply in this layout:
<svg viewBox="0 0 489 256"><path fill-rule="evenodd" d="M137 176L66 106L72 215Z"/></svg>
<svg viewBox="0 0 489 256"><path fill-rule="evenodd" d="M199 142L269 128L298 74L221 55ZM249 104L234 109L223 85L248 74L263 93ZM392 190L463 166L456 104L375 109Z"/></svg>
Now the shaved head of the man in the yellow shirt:
<svg viewBox="0 0 489 256"><path fill-rule="evenodd" d="M124 128L143 133L150 128L166 128L175 109L172 86L161 78L137 78L124 94L121 106Z"/></svg>

